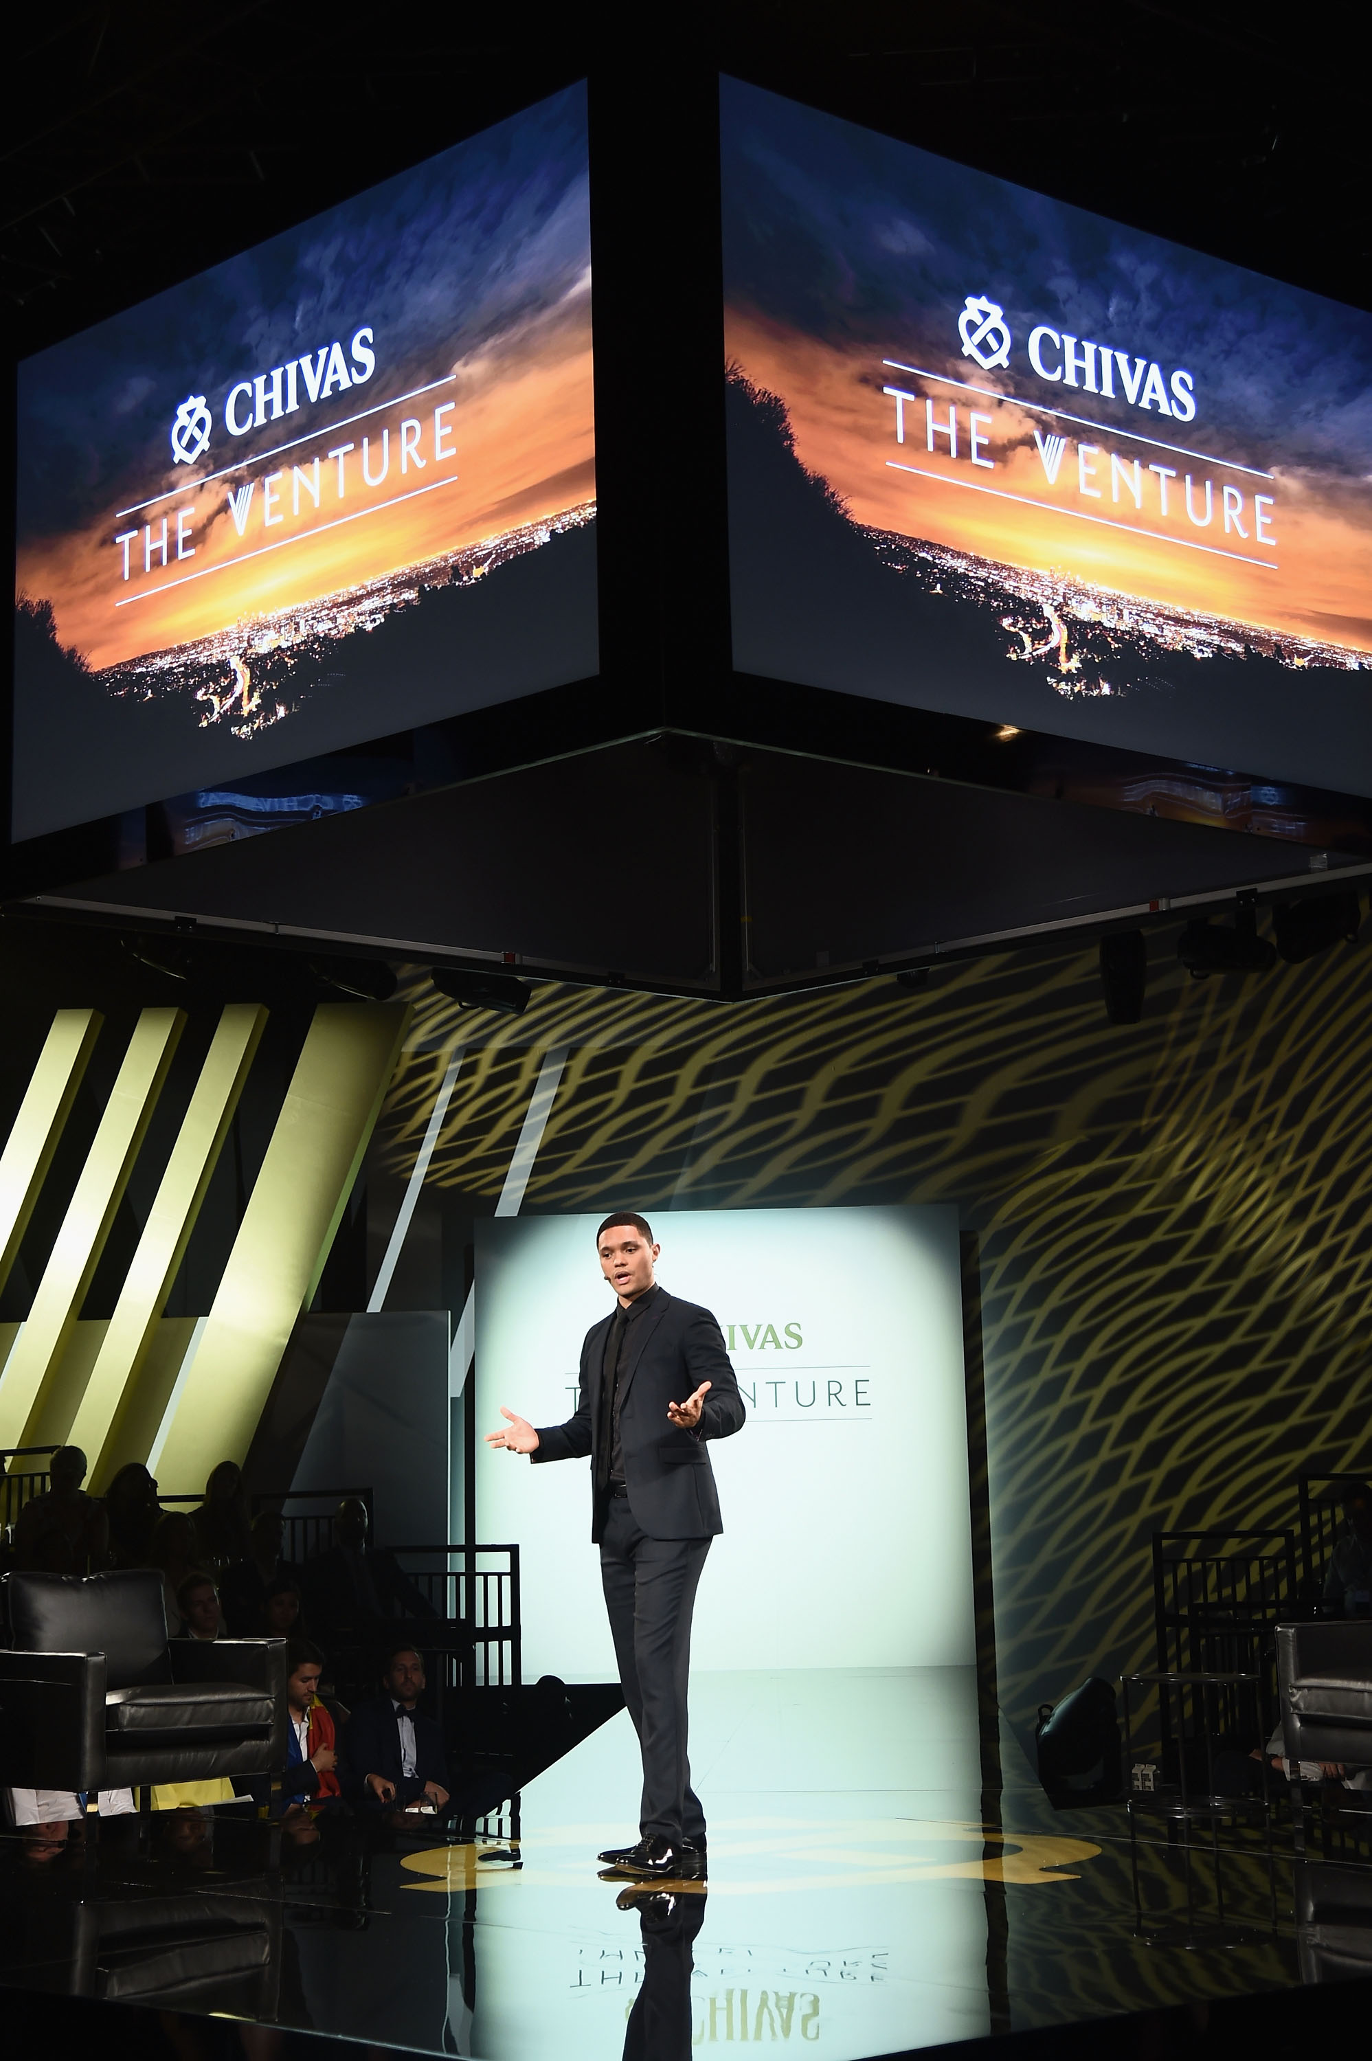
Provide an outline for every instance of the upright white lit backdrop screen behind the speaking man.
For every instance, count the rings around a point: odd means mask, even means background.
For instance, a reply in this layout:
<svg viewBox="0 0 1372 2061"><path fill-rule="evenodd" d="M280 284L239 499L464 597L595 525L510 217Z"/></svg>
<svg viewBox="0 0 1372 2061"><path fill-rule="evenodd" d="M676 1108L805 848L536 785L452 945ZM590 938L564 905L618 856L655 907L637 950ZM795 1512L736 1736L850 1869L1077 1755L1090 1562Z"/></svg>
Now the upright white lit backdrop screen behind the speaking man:
<svg viewBox="0 0 1372 2061"><path fill-rule="evenodd" d="M501 1404L577 1406L610 1309L597 1216L478 1224L476 1523L517 1540L525 1680L614 1680L589 1461L484 1445ZM958 1218L952 1208L655 1212L657 1278L705 1303L748 1424L711 1443L723 1507L696 1597L696 1667L974 1661Z"/></svg>

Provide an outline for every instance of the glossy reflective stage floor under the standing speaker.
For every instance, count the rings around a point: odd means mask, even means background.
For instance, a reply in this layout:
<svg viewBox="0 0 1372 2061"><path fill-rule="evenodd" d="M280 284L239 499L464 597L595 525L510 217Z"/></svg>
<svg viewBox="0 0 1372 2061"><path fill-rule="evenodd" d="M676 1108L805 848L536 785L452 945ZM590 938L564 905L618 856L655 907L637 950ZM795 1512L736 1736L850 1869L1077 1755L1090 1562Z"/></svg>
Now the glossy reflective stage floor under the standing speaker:
<svg viewBox="0 0 1372 2061"><path fill-rule="evenodd" d="M597 1880L634 1822L624 1713L474 1845L187 1814L10 1832L0 1981L480 2061L859 2061L1298 1981L1290 1857L1255 1834L1215 1884L1156 1840L1135 1904L1123 1807L1053 1812L1003 1729L997 1779L970 1671L696 1676L692 1768L711 1880L674 1913Z"/></svg>

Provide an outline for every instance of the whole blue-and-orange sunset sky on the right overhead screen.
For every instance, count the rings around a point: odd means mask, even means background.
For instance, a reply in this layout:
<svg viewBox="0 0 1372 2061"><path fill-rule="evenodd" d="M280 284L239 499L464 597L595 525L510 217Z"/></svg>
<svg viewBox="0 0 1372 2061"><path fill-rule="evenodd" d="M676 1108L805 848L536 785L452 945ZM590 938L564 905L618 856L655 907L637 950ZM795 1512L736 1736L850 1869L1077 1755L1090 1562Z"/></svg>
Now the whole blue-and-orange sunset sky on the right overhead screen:
<svg viewBox="0 0 1372 2061"><path fill-rule="evenodd" d="M1372 317L733 80L723 188L725 354L855 521L1372 651ZM964 350L970 297L999 365ZM1086 392L1082 363L1038 377L1040 326L1051 367L1069 334L1164 392L1185 369L1193 418Z"/></svg>

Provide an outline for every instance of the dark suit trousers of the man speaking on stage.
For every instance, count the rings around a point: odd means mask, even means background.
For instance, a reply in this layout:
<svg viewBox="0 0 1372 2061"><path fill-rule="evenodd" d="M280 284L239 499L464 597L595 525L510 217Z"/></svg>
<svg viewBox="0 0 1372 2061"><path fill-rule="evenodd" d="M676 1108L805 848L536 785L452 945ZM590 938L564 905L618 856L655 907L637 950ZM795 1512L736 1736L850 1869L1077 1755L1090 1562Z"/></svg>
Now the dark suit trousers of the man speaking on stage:
<svg viewBox="0 0 1372 2061"><path fill-rule="evenodd" d="M686 1684L690 1616L709 1550L709 1538L647 1538L628 1496L610 1498L599 1579L620 1686L643 1754L643 1838L705 1838L705 1812L686 1760Z"/></svg>

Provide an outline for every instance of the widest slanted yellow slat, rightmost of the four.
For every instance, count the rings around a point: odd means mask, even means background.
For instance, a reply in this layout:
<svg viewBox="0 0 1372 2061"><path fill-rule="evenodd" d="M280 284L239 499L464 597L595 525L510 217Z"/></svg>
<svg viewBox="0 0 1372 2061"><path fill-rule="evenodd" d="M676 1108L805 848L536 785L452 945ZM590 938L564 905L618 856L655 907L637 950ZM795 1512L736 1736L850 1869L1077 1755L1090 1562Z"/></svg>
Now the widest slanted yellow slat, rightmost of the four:
<svg viewBox="0 0 1372 2061"><path fill-rule="evenodd" d="M245 1459L290 1329L319 1284L408 1022L408 1004L315 1010L167 1430L161 1480L204 1482L216 1461Z"/></svg>

